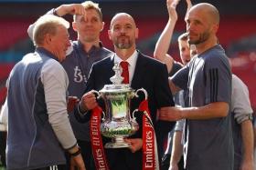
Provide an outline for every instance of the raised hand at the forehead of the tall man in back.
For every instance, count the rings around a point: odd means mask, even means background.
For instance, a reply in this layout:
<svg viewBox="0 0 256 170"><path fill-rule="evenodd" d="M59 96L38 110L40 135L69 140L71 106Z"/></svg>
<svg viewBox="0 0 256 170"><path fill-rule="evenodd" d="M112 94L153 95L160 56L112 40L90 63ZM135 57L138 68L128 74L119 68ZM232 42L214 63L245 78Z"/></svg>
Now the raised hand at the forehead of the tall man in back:
<svg viewBox="0 0 256 170"><path fill-rule="evenodd" d="M63 15L84 15L85 9L81 4L71 4L71 5L60 5L56 8L56 14L59 16Z"/></svg>

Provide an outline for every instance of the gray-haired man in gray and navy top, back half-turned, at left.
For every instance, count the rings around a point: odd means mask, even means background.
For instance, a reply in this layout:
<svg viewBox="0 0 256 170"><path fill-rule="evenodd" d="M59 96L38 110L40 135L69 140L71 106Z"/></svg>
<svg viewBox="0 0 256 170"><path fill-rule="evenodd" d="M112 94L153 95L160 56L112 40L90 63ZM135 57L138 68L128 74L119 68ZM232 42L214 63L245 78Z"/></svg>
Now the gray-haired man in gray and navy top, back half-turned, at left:
<svg viewBox="0 0 256 170"><path fill-rule="evenodd" d="M58 16L40 17L33 31L35 53L25 55L9 75L7 169L63 165L63 148L74 165L85 169L67 114L69 80L59 64L70 45L68 28Z"/></svg>

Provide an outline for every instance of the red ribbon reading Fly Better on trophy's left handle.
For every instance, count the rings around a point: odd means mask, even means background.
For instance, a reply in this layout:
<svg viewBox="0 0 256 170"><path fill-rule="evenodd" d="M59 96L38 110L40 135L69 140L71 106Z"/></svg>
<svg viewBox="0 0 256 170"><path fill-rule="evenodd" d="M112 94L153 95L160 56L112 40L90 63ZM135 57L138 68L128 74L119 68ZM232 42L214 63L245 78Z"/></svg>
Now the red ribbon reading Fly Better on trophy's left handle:
<svg viewBox="0 0 256 170"><path fill-rule="evenodd" d="M107 159L105 156L105 152L104 152L104 148L101 140L101 131L100 131L101 114L102 114L102 109L100 106L96 106L92 110L91 121L90 121L92 155L93 155L97 170L109 170L109 166L107 164Z"/></svg>

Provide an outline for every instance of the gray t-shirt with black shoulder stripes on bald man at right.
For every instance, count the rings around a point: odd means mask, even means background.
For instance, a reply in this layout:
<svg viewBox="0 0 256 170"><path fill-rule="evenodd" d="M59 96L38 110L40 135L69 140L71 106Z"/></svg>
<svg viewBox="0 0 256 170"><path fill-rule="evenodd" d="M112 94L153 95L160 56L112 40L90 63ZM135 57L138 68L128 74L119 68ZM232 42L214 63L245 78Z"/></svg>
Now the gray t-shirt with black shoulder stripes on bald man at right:
<svg viewBox="0 0 256 170"><path fill-rule="evenodd" d="M231 100L231 71L228 57L215 45L172 77L175 85L188 89L189 106ZM186 120L185 166L191 170L232 170L233 141L230 114L207 120Z"/></svg>

